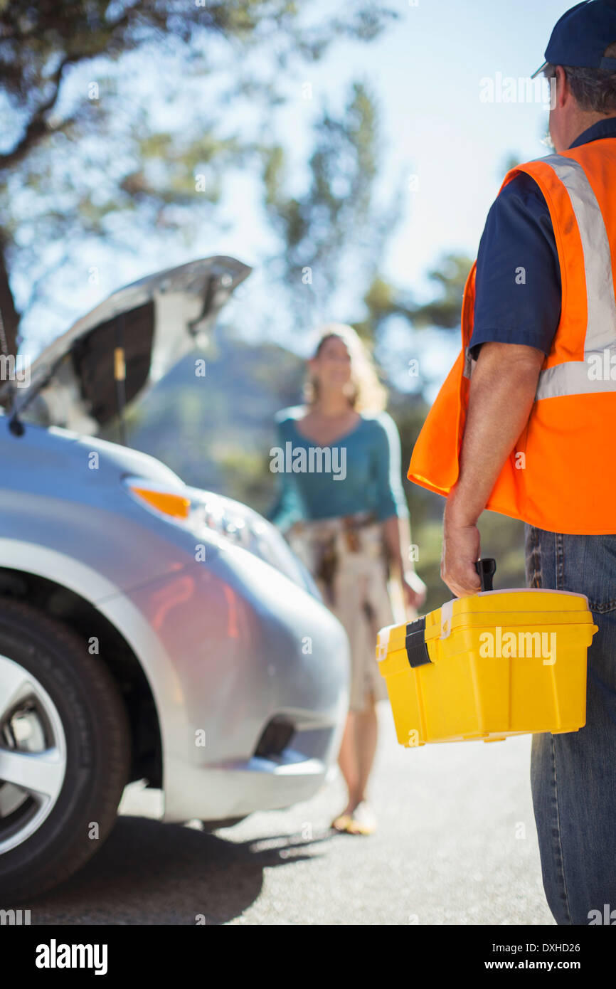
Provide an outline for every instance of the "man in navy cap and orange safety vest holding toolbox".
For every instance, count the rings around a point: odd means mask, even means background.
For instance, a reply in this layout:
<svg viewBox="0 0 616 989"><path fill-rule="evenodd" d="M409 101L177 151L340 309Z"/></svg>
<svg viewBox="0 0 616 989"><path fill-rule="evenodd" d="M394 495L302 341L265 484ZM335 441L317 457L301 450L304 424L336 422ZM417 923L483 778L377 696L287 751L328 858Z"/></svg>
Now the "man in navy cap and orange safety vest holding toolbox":
<svg viewBox="0 0 616 989"><path fill-rule="evenodd" d="M535 735L531 763L550 909L588 924L616 910L616 0L572 7L546 59L557 153L505 177L408 477L447 496L458 596L485 507L526 523L527 584L588 596L586 726Z"/></svg>

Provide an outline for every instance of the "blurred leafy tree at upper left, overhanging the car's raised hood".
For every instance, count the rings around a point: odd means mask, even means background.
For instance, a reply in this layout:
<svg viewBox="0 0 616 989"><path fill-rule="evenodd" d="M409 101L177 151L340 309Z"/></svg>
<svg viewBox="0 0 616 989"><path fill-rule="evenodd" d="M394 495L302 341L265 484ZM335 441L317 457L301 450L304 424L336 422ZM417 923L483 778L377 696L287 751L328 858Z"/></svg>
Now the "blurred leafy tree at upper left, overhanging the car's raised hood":
<svg viewBox="0 0 616 989"><path fill-rule="evenodd" d="M137 231L163 239L199 210L208 221L229 167L264 152L220 127L229 106L271 107L294 60L335 39L370 41L389 16L361 0L308 23L293 0L0 0L5 353L50 266L61 279L84 238L126 248ZM255 48L268 52L266 72ZM204 107L200 88L221 77ZM161 104L187 94L182 127L161 127Z"/></svg>

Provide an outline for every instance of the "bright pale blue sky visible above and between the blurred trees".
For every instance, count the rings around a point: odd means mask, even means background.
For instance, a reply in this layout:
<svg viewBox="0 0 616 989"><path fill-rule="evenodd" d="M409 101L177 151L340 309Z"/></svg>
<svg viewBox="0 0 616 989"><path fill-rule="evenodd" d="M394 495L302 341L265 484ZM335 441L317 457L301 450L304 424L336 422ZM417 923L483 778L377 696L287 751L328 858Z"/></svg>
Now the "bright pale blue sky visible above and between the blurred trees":
<svg viewBox="0 0 616 989"><path fill-rule="evenodd" d="M571 5L561 0L390 0L389 5L399 18L376 41L367 45L338 42L320 61L298 69L287 84L288 102L272 115L268 130L288 147L296 163L292 181L301 188L310 124L321 102L341 106L352 80L368 84L381 118L377 193L385 201L400 188L404 190L399 223L382 259L382 271L401 289L425 299L431 292L427 273L442 254L476 255L485 215L506 162L549 153L541 142L548 126L547 105L541 98L505 102L509 95L506 79L517 82L539 67L554 24ZM331 15L332 4L314 0L309 9L312 16L318 16L319 10ZM228 51L224 56L228 60ZM146 71L140 77L144 87L152 82L151 62L146 68L149 74ZM85 72L88 75L91 69ZM164 89L161 68L157 72L154 100ZM305 98L307 83L310 99ZM206 77L199 91L205 105L214 97L214 93L209 96L208 85L212 83ZM489 85L493 102L485 100ZM498 93L503 97L500 101L495 99ZM536 95L541 97L541 93ZM162 114L163 101L159 102ZM229 126L232 117L231 110ZM254 274L225 313L230 320L244 323L250 336L245 302L252 304L248 310L262 310L261 262L274 246L256 192L255 176L232 175L220 224L216 228L204 225L190 243L178 238L175 247L165 251L164 263L155 241L141 244L121 264L113 253L105 254L102 244L93 261L100 266L100 283L90 285L85 277L77 281L74 289L63 293L61 315L45 314L42 319L40 312L34 313L26 321L27 338L33 343L37 339L46 342L69 325L71 315L76 318L87 312L133 279L208 254L235 255L254 266ZM351 285L345 313L332 315L361 318L365 289ZM267 304L271 305L269 300Z"/></svg>

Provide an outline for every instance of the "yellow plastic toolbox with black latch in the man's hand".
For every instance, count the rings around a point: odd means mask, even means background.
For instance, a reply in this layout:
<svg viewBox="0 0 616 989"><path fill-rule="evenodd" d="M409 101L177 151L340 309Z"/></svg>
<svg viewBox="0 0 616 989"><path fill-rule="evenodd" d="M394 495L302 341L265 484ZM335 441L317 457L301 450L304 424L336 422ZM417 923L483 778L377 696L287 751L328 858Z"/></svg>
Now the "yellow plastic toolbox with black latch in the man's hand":
<svg viewBox="0 0 616 989"><path fill-rule="evenodd" d="M377 659L403 746L527 732L574 732L586 720L586 651L597 631L584 594L482 591L379 632Z"/></svg>

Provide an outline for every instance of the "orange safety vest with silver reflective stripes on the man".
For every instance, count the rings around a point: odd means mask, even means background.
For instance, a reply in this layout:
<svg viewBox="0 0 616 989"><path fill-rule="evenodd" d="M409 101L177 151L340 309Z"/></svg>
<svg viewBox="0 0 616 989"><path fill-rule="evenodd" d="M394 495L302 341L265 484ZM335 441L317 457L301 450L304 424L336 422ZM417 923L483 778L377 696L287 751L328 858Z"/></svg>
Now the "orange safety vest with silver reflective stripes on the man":
<svg viewBox="0 0 616 989"><path fill-rule="evenodd" d="M528 422L485 507L550 532L616 533L616 137L518 165L501 189L518 172L535 179L550 210L562 309ZM475 271L462 304L462 350L408 468L410 481L437 494L449 494L460 470L476 364Z"/></svg>

